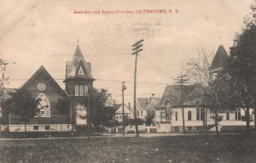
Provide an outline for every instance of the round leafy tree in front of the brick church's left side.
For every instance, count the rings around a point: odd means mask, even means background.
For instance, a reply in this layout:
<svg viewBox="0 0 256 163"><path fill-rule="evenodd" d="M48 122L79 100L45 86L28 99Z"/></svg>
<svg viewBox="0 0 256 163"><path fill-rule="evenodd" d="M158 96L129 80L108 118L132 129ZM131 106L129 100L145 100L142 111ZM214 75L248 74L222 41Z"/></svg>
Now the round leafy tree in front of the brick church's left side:
<svg viewBox="0 0 256 163"><path fill-rule="evenodd" d="M38 108L41 99L35 98L25 89L19 89L15 93L9 93L11 98L4 102L4 109L15 116L15 119L23 121L25 124L26 137L26 123L31 121L35 115L38 115L40 108Z"/></svg>

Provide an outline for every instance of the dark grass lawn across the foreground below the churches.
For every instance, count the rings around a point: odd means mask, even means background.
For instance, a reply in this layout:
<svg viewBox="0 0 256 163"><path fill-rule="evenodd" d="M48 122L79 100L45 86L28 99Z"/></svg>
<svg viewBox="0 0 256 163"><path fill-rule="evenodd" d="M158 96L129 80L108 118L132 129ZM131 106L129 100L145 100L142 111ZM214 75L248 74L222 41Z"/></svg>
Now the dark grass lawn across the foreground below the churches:
<svg viewBox="0 0 256 163"><path fill-rule="evenodd" d="M256 136L0 141L0 162L256 162Z"/></svg>

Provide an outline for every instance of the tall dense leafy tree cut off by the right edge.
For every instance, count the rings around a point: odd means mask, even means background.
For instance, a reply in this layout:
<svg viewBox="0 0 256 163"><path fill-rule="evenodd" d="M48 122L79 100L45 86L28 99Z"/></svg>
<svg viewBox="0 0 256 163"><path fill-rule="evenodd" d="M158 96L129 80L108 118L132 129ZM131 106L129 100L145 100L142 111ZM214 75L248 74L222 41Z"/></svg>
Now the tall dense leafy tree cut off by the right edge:
<svg viewBox="0 0 256 163"><path fill-rule="evenodd" d="M249 109L253 107L254 117L256 115L256 5L251 8L252 13L244 20L241 32L236 33L227 67L236 90L236 103L245 110L243 120L247 121L247 132L252 121Z"/></svg>

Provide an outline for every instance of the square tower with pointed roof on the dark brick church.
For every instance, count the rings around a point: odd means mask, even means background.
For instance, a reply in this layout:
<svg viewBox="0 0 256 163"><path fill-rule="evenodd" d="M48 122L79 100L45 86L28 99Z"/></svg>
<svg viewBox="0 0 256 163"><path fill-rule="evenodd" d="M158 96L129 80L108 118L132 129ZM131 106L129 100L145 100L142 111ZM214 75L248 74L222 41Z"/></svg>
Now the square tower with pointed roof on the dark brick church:
<svg viewBox="0 0 256 163"><path fill-rule="evenodd" d="M86 110L87 104L81 104L81 99L85 98L89 91L93 88L93 82L95 79L91 75L90 63L86 62L84 55L81 52L79 45L77 46L73 55L72 61L67 61L66 65L66 79L65 86L66 91L69 94L70 99L70 115L72 119L70 122L76 125L86 124L86 120L79 119L78 110ZM73 116L76 115L76 118Z"/></svg>

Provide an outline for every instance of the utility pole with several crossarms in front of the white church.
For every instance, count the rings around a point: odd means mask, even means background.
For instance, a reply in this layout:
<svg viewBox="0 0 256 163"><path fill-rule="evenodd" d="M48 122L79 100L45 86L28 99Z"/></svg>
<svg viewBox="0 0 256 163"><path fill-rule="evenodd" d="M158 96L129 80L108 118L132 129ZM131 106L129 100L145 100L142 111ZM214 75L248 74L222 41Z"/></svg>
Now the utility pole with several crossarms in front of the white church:
<svg viewBox="0 0 256 163"><path fill-rule="evenodd" d="M178 88L180 89L181 92L181 105L182 105L182 111L183 111L183 133L185 133L185 120L184 120L184 101L183 101L183 86L185 83L188 83L187 81L189 81L189 79L184 79L184 77L186 77L186 75L182 75L182 76L177 76L177 79L175 83L177 83Z"/></svg>

